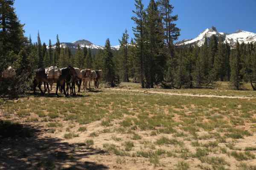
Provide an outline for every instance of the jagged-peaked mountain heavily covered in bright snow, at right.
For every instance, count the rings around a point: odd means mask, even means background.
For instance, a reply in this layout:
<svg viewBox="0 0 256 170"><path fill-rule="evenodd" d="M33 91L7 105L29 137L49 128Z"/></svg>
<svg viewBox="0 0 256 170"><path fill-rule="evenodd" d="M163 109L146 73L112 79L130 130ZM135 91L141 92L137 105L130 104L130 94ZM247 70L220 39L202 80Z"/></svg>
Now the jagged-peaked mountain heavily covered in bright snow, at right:
<svg viewBox="0 0 256 170"><path fill-rule="evenodd" d="M256 34L248 31L242 31L238 30L234 33L224 33L224 32L218 32L217 29L212 26L210 29L206 28L204 31L202 31L197 37L194 39L189 40L181 40L179 42L176 42L176 45L190 45L190 44L197 44L198 46L201 46L204 44L204 36L206 35L207 41L209 41L210 37L215 34L217 37L221 37L221 39L225 42L227 41L230 43L230 45L234 45L236 43L236 40L239 41L239 43L248 43L248 42L256 42Z"/></svg>

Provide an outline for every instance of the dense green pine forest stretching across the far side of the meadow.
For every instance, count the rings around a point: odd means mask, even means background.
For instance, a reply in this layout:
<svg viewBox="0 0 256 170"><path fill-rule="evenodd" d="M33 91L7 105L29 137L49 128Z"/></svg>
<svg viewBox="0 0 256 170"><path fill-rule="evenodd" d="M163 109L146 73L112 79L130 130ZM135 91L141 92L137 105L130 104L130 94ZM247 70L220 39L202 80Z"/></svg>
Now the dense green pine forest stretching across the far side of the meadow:
<svg viewBox="0 0 256 170"><path fill-rule="evenodd" d="M0 1L0 71L12 66L29 66L32 70L56 65L77 68L102 69L105 81L112 87L123 82L138 82L142 88L201 88L211 87L216 81L229 81L230 86L241 89L243 82L250 82L256 90L256 45L230 46L213 35L205 37L201 47L177 46L180 36L169 0L150 0L144 8L142 0L135 0L133 27L134 39L129 40L127 30L119 40L120 49L111 49L110 40L104 49L91 53L85 46L71 53L62 46L58 34L56 44L41 43L24 37L23 24L13 8L14 0ZM1 82L0 82L1 83ZM9 88L5 88L9 89Z"/></svg>

